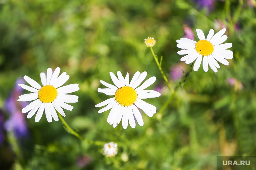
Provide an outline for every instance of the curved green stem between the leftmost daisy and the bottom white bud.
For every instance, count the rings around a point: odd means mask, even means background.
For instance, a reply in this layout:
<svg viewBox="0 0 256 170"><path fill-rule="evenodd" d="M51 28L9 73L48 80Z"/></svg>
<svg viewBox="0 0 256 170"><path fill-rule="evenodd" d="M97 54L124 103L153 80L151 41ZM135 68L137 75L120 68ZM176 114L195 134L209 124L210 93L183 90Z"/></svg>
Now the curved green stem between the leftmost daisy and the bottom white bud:
<svg viewBox="0 0 256 170"><path fill-rule="evenodd" d="M105 144L105 142L103 142L103 141L91 141L91 140L88 140L88 139L82 137L81 135L79 135L77 132L75 132L75 131L67 124L67 122L63 119L63 117L60 115L59 112L57 112L57 113L58 113L58 116L59 116L60 120L62 121L62 123L63 123L64 126L65 126L64 128L67 130L67 132L68 132L69 134L72 134L72 135L76 136L77 138L79 138L79 139L81 139L81 140L87 142L88 144L97 145L97 146L102 146L102 145Z"/></svg>

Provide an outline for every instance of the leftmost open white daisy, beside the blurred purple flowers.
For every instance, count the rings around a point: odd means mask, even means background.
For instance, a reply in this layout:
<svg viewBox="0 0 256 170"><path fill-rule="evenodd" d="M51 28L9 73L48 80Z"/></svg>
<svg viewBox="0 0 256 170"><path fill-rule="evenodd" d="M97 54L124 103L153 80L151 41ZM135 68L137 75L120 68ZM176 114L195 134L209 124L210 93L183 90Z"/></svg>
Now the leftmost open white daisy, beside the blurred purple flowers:
<svg viewBox="0 0 256 170"><path fill-rule="evenodd" d="M59 74L60 67L57 67L54 72L51 68L48 68L46 75L45 73L41 73L40 77L43 87L30 77L26 75L24 76L24 79L32 87L25 84L19 84L19 86L32 93L19 96L18 101L27 102L34 100L22 109L22 113L29 112L27 116L28 118L31 118L38 110L35 117L36 122L41 119L43 111L45 111L48 122L52 122L52 117L55 121L58 121L59 118L56 110L65 117L66 115L62 108L66 110L73 109L73 106L66 103L76 103L78 101L78 96L66 94L78 91L78 84L69 84L60 87L69 79L69 75L67 75L66 72L63 72L60 76Z"/></svg>

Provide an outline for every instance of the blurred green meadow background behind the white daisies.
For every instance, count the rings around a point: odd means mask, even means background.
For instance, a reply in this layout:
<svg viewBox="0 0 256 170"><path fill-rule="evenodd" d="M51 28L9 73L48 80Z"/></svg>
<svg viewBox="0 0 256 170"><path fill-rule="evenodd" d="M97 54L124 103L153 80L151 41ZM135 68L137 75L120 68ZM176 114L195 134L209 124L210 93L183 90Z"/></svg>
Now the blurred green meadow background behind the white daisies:
<svg viewBox="0 0 256 170"><path fill-rule="evenodd" d="M255 156L255 5L255 0L0 0L0 169L214 170L216 156ZM177 39L191 29L198 41L196 28L207 36L223 27L225 43L233 43L229 66L220 64L217 73L205 73L202 66L191 72L162 113L150 118L141 111L144 126L113 128L109 111L98 113L95 105L109 98L97 92L103 88L99 80L112 83L109 71L156 76L149 89L162 95L145 101L158 110L170 97L145 38L157 41L153 49L163 56L169 77L177 65L181 73L190 67L180 62ZM7 99L12 96L15 107L23 108L15 102L16 80L28 75L40 82L40 72L58 66L70 75L66 84L80 87L65 121L89 140L117 143L115 157L105 157L103 146L79 140L60 120L49 123L44 115L38 123L22 113L23 119L13 120L14 125L23 120L24 136L6 129L12 115ZM175 88L180 79L169 81Z"/></svg>

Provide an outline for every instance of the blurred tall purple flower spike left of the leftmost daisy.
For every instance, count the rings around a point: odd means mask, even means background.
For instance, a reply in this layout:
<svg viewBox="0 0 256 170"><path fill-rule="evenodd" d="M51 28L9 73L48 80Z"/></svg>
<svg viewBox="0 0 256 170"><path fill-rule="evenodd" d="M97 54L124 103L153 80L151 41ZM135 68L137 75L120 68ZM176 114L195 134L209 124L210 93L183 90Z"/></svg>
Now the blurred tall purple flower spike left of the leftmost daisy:
<svg viewBox="0 0 256 170"><path fill-rule="evenodd" d="M25 121L25 114L21 112L27 103L17 102L17 98L22 94L23 89L18 86L20 83L25 83L23 78L18 78L9 98L5 101L5 109L10 114L10 117L4 123L6 131L13 131L14 134L21 138L28 135L27 123Z"/></svg>

